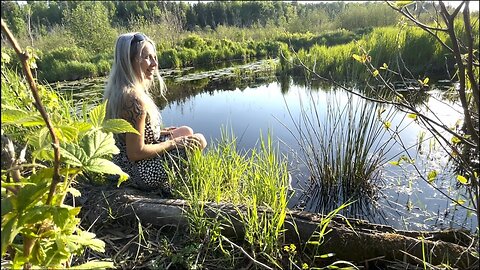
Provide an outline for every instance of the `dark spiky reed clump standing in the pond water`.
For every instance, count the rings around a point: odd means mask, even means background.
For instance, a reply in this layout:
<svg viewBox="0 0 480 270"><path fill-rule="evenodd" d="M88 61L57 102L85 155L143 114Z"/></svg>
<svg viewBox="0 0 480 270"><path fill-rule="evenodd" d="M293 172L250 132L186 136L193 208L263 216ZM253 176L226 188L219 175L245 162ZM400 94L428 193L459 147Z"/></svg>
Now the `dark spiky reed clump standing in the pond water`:
<svg viewBox="0 0 480 270"><path fill-rule="evenodd" d="M301 105L299 120L290 113L290 132L310 173L300 201L309 210L325 213L356 200L350 216L369 212L379 168L392 146L387 127L394 111L339 91L327 93L326 100L310 94L308 104Z"/></svg>

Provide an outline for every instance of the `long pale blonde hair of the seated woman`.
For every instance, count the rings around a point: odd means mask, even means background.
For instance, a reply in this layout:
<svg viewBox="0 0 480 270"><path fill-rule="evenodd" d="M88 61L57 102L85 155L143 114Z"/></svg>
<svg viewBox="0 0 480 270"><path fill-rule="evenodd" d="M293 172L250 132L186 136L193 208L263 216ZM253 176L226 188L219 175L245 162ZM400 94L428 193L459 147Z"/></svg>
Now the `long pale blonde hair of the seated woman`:
<svg viewBox="0 0 480 270"><path fill-rule="evenodd" d="M136 34L144 37L143 40L132 44ZM103 95L104 100L108 100L106 118L120 118L122 110L122 98L130 91L143 89L139 91L142 93L142 99L146 104L146 111L150 118L150 123L153 127L160 127L161 117L158 108L153 101L149 88L152 85L150 80L141 80L135 75L132 60L140 57L140 54L147 44L150 42L153 45L156 54L155 43L147 36L134 32L122 34L117 38L115 43L115 54L113 58L112 69L108 77L107 85ZM133 55L132 55L133 54ZM158 69L156 70L156 77L159 82L160 95L164 97L165 83L160 76Z"/></svg>

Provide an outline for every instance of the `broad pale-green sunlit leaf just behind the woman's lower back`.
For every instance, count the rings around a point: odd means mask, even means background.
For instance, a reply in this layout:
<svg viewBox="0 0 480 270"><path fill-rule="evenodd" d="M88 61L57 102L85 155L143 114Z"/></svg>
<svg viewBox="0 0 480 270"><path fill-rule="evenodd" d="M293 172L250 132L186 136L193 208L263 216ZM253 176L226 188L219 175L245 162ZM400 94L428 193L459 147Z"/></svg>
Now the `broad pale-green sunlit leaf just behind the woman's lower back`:
<svg viewBox="0 0 480 270"><path fill-rule="evenodd" d="M92 158L105 157L106 155L118 154L120 150L115 145L112 133L104 133L96 130L82 138L81 146L86 155Z"/></svg>

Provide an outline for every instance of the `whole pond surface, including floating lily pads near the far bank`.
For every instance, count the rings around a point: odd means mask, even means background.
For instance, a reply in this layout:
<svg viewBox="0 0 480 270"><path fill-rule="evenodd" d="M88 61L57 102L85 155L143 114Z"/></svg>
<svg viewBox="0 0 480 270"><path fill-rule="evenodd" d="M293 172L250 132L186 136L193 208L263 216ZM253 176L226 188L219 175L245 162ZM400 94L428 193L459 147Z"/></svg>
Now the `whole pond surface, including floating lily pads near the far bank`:
<svg viewBox="0 0 480 270"><path fill-rule="evenodd" d="M259 63L224 68L216 73L204 72L200 75L163 71L169 88L168 103L157 98L163 123L165 126L188 125L196 132L203 133L210 144L220 139L222 130L229 131L237 138L237 148L240 151L257 147L260 138L266 138L270 134L280 153L288 158L291 185L294 190L289 207L326 214L348 198L334 198L328 194L310 196L305 193L311 175L308 166L302 162L305 157L301 155L299 130L295 126L302 121L302 113L316 113L322 125L323 121L328 122L325 120L328 116L327 107L332 104L343 108L350 100L349 104L355 111L364 101L331 85L308 86L292 78L276 77L271 72L270 64ZM250 70L249 76L244 70ZM236 76L229 76L231 73ZM225 76L217 76L218 74L227 74L227 79ZM101 85L104 80L105 78L100 78L93 83L82 82L86 89L81 92L75 91L75 95L82 98L87 95L93 99L101 98ZM79 83L71 82L68 85ZM433 88L423 93L419 99L439 115L447 126L451 126L461 114L457 110L458 105L446 101L443 94L443 90ZM423 149L419 149L419 138L428 139L430 135L424 133L426 130L417 125L414 119L406 117L405 113L394 108L385 109L389 113L390 130L397 131L404 146L398 140L389 139L391 136L387 136L388 132L378 139L388 145L389 151L384 155L381 174L374 183L374 194L365 196L367 200L356 202L360 204L357 205L359 211L351 211L345 215L388 224L397 229L434 230L464 227L474 230L477 226L476 217L469 211L455 206L442 194L448 194L456 199L462 198L462 191L455 188L456 180L453 173L444 173L438 177L435 184L439 189L434 189L426 181L421 180L408 164L401 168L389 163L399 160L403 153L402 149L406 147L409 149L410 158L415 159L420 170L425 170L422 172L425 175L432 168L440 172L442 168L449 166L446 153L433 145L431 140L425 140L420 144ZM368 114L377 113L371 111ZM377 153L369 153L370 156L375 154ZM311 190L309 192L311 193ZM320 201L324 202L321 207Z"/></svg>

